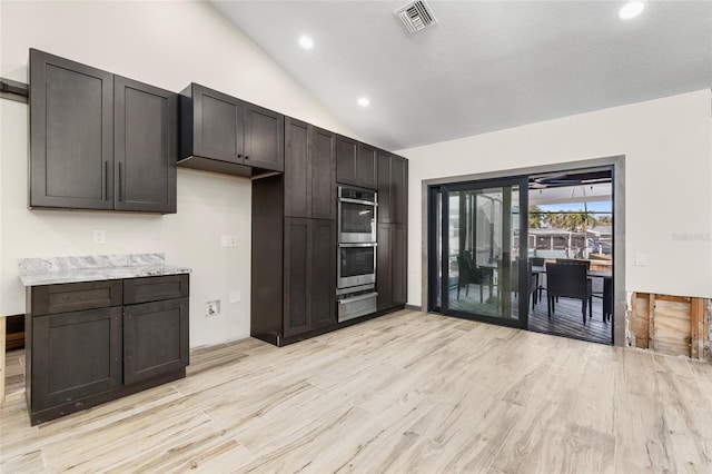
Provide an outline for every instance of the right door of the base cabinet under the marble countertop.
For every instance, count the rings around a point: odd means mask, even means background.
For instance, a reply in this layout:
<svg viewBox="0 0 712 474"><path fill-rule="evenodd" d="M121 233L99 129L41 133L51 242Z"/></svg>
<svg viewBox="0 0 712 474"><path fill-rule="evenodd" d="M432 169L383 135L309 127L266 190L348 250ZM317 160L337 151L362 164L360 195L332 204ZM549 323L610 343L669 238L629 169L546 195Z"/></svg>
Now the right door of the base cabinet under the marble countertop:
<svg viewBox="0 0 712 474"><path fill-rule="evenodd" d="M188 365L188 298L126 306L123 383L135 384Z"/></svg>

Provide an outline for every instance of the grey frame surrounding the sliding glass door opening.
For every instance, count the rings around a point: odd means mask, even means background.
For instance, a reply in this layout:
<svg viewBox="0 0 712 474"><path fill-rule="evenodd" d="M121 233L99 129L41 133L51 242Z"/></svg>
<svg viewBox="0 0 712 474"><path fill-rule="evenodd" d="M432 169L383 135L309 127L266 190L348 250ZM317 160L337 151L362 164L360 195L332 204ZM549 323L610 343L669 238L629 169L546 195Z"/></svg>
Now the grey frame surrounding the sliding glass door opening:
<svg viewBox="0 0 712 474"><path fill-rule="evenodd" d="M625 345L626 293L625 293L625 156L617 155L604 158L540 165L526 168L511 168L474 175L451 176L426 179L421 187L421 309L427 312L431 293L428 276L431 275L428 256L429 188L463 181L484 181L517 176L542 175L548 172L577 171L590 168L610 167L613 185L613 345Z"/></svg>

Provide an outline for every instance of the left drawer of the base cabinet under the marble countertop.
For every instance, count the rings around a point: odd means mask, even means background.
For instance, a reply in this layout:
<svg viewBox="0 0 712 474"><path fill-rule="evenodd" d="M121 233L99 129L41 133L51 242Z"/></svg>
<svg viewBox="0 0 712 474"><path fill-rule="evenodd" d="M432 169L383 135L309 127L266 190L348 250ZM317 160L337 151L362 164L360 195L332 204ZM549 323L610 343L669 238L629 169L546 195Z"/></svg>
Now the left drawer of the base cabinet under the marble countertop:
<svg viewBox="0 0 712 474"><path fill-rule="evenodd" d="M32 315L42 316L82 309L120 306L123 300L121 280L68 283L32 288Z"/></svg>

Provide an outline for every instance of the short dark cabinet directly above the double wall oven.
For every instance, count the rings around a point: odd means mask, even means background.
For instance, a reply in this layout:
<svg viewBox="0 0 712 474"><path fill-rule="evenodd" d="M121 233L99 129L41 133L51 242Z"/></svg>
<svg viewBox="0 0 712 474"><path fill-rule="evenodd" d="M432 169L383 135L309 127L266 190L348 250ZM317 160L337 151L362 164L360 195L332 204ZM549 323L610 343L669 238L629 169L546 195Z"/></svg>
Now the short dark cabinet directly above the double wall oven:
<svg viewBox="0 0 712 474"><path fill-rule="evenodd" d="M336 181L376 189L378 150L370 145L338 136L336 144Z"/></svg>

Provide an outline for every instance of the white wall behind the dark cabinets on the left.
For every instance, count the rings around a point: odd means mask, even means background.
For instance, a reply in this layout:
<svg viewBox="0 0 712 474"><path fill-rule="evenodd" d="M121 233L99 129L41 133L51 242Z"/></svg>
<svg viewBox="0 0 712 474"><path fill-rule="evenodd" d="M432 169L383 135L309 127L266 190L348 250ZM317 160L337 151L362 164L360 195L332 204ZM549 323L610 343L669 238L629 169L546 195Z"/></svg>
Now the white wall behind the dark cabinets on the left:
<svg viewBox="0 0 712 474"><path fill-rule="evenodd" d="M27 82L29 48L179 91L198 82L320 127L345 129L202 2L0 2L0 76ZM190 345L249 335L250 181L178 170L178 214L27 209L28 106L0 100L0 314L24 313L17 259L162 251L192 268ZM107 243L92 244L92 229ZM240 245L220 247L236 234ZM241 292L230 304L229 292ZM204 304L221 299L221 315Z"/></svg>

